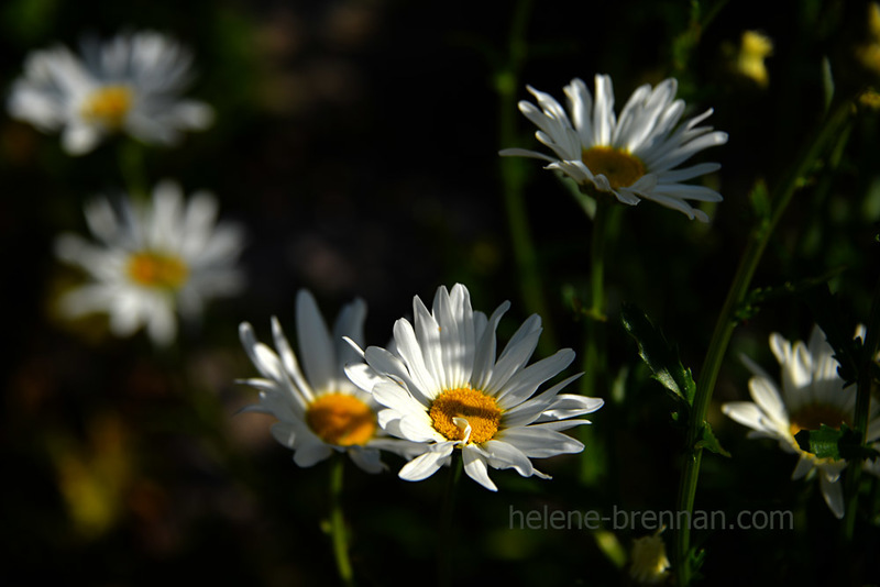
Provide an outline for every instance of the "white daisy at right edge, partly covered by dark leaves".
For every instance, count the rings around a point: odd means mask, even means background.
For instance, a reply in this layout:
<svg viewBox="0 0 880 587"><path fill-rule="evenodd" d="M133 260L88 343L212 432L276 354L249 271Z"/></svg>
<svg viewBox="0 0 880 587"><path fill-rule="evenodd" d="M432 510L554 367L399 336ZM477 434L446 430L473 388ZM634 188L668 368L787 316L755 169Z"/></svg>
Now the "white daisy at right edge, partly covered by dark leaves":
<svg viewBox="0 0 880 587"><path fill-rule="evenodd" d="M799 456L792 479L817 472L822 495L837 518L844 517L844 492L838 483L846 468L844 459L818 458L802 451L794 440L801 430L818 430L822 424L839 428L853 425L856 409L856 387L844 388L837 375L834 350L818 326L813 329L810 344L798 341L792 345L781 335L770 335L770 348L782 367L782 391L761 367L743 357L755 375L749 380L751 401L732 401L722 411L740 424L752 429L749 438L772 439L780 448ZM880 418L877 403L871 406L868 441L880 439Z"/></svg>

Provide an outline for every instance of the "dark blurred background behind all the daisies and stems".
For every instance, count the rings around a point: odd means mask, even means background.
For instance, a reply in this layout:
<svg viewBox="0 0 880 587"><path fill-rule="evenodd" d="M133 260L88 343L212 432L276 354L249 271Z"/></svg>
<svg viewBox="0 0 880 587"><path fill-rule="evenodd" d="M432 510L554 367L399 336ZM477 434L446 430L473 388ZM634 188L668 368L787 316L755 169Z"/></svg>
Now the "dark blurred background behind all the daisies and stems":
<svg viewBox="0 0 880 587"><path fill-rule="evenodd" d="M474 307L513 310L502 336L531 311L519 289L497 151L538 148L517 115L519 140L499 144L497 84L508 63L514 2L189 2L11 0L0 7L0 82L24 56L84 34L156 29L196 55L191 95L213 106L216 125L175 148L144 147L151 184L170 177L187 193L217 195L222 215L248 226L249 287L212 303L170 351L143 333L116 340L100 318L65 322L54 302L79 277L52 255L63 231L86 233L81 207L124 189L118 141L72 158L58 137L0 118L0 242L7 350L0 450L0 583L100 586L156 582L333 584L326 463L299 469L268 435L270 418L235 414L255 391L234 385L255 370L238 324L270 335L271 315L294 331L296 291L311 289L327 317L355 296L370 304L367 339L384 344L414 295L468 285ZM698 12L694 12L694 8ZM717 9L717 11L716 11ZM645 308L698 375L712 328L754 213L749 191L771 187L809 141L824 108L822 60L840 85L864 25L864 4L834 1L535 2L528 51L516 79L562 98L562 86L609 74L617 109L640 84L680 81L690 115L727 145L701 154L723 168L707 178L724 202L701 224L651 202L622 214L608 252L609 361L619 391L593 414L604 463L580 483L580 457L539 463L551 481L494 472L498 494L464 478L455 540L439 543L444 472L418 484L392 473L346 469L352 558L363 585L430 583L438 549L452 549L461 583L619 585L623 575L579 530L510 530L510 508L674 508L682 433L670 403L638 363L617 322L623 300ZM708 16L712 15L710 19ZM770 85L730 68L745 30L773 40ZM779 286L839 268L832 287L851 320L865 322L878 275L880 219L877 112L864 112L837 157L823 157L795 195L755 278ZM526 204L558 344L581 351L582 321L569 298L586 291L592 225L540 162L524 159ZM710 413L732 459L707 455L696 507L793 510L795 528L697 532L707 585L862 585L880 582L865 553L878 546L872 479L856 547L843 552L838 523L817 481L792 483L794 457L722 419L717 406L746 399L745 353L769 373L770 332L806 339L814 318L796 296L768 302L735 334ZM574 367L572 367L572 373ZM873 497L870 497L873 496ZM871 522L871 517L872 522ZM610 530L610 529L609 529ZM624 549L649 533L616 532ZM747 561L744 564L744 561ZM178 579L179 578L179 579Z"/></svg>

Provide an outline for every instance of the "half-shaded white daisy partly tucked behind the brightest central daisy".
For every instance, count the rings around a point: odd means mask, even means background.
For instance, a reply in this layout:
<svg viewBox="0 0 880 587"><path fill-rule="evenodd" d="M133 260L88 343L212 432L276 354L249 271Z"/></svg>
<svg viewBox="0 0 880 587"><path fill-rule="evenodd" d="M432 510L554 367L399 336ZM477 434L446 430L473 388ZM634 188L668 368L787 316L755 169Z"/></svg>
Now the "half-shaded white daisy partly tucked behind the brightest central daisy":
<svg viewBox="0 0 880 587"><path fill-rule="evenodd" d="M272 333L277 353L257 342L248 322L239 328L244 350L263 376L240 381L260 389L260 403L245 411L278 419L272 434L294 451L294 462L300 467L310 467L336 451L348 453L367 473L378 473L384 468L381 448L399 454L411 450L411 443L385 436L376 425L373 397L345 377L345 364L359 357L343 336L363 344L365 318L363 300L349 303L340 311L331 336L315 298L300 290L296 325L305 373L276 318Z"/></svg>

